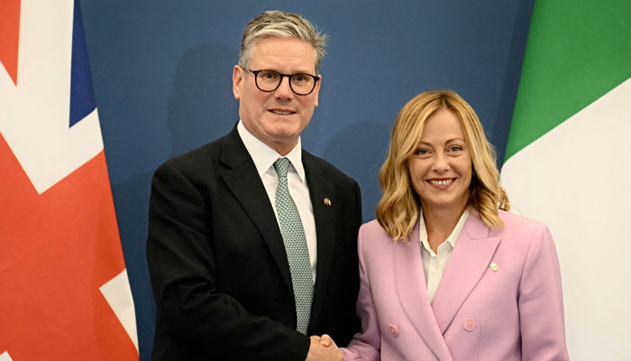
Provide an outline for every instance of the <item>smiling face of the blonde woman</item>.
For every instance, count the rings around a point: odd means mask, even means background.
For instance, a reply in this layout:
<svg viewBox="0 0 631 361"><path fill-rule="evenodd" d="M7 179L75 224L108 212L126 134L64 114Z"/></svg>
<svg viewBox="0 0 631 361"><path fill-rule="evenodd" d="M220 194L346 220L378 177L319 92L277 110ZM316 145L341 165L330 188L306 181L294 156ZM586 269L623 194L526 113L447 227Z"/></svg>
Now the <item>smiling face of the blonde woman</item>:
<svg viewBox="0 0 631 361"><path fill-rule="evenodd" d="M462 211L469 201L471 153L462 126L451 110L440 109L425 121L416 151L407 160L424 211Z"/></svg>

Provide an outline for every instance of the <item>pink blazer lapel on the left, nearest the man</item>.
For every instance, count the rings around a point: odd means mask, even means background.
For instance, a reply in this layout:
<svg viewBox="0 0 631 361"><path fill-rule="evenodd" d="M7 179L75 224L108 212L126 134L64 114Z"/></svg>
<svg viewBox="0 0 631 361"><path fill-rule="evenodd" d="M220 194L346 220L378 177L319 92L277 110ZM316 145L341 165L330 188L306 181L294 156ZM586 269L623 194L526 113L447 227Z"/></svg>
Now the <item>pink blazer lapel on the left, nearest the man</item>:
<svg viewBox="0 0 631 361"><path fill-rule="evenodd" d="M416 332L425 340L427 346L439 360L451 360L449 348L438 328L432 305L427 296L425 273L418 242L418 223L410 237L394 247L395 284L398 299L407 318L412 321Z"/></svg>

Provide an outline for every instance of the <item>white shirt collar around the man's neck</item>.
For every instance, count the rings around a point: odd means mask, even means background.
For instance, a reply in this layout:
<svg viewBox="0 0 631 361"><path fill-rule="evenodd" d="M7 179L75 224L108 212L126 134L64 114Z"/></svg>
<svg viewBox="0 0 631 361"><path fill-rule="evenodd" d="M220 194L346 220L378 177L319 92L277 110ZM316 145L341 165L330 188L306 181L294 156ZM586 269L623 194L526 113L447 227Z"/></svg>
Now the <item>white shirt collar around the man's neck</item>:
<svg viewBox="0 0 631 361"><path fill-rule="evenodd" d="M237 124L237 132L241 137L243 145L245 145L245 149L250 153L259 176L262 176L263 173L268 171L277 159L283 157L278 152L271 149L266 143L261 142L254 134L251 134L250 131L245 128L241 119L239 119L239 124ZM285 155L285 158L291 162L300 180L305 181L305 167L302 164L302 145L299 136L298 143L291 152Z"/></svg>

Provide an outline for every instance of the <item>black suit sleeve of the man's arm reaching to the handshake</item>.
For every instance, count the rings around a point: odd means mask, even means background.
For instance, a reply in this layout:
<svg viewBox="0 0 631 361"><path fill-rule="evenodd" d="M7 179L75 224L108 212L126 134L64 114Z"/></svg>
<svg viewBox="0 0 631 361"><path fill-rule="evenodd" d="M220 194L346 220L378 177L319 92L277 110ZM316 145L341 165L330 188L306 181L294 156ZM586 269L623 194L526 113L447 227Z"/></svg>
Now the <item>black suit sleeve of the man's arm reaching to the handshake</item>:
<svg viewBox="0 0 631 361"><path fill-rule="evenodd" d="M157 329L209 359L305 359L308 337L217 292L207 201L175 166L154 174L147 260Z"/></svg>

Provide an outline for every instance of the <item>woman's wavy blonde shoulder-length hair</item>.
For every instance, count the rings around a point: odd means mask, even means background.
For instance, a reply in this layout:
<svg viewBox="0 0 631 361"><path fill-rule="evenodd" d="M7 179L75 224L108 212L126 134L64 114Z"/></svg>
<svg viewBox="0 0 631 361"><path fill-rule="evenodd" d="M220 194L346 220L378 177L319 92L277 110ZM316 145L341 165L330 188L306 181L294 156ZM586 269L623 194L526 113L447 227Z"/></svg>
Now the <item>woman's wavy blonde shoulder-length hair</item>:
<svg viewBox="0 0 631 361"><path fill-rule="evenodd" d="M469 208L477 210L490 228L504 226L498 209L510 209L506 191L499 185L495 151L473 108L451 90L428 91L401 108L392 128L388 158L380 171L383 196L377 206L377 220L395 242L407 239L416 226L421 206L407 161L423 135L427 118L440 109L448 109L458 118L471 152Z"/></svg>

